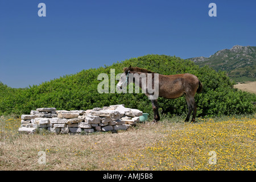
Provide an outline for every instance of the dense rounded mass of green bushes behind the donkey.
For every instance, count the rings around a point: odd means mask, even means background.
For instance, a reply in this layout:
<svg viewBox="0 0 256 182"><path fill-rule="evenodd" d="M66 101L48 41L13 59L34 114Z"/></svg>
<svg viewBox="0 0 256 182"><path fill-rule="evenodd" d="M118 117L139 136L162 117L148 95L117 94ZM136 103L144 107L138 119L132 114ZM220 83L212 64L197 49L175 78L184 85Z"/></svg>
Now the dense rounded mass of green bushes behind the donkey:
<svg viewBox="0 0 256 182"><path fill-rule="evenodd" d="M212 68L199 68L192 61L175 56L146 55L131 58L98 69L82 70L75 75L66 75L55 80L33 85L26 89L12 89L0 85L6 90L0 95L0 115L29 114L39 107L56 107L57 110L86 110L94 107L125 104L126 107L142 110L152 116L151 102L144 94L120 94L97 92L101 82L100 73L115 69L115 75L122 73L123 67L141 67L163 75L191 73L203 83L203 92L196 94L198 116L229 115L253 113L256 101L254 94L233 88L233 82L225 72L216 72ZM115 81L117 84L118 81ZM109 81L110 84L110 81ZM175 100L159 98L160 114L166 117L187 113L184 97Z"/></svg>

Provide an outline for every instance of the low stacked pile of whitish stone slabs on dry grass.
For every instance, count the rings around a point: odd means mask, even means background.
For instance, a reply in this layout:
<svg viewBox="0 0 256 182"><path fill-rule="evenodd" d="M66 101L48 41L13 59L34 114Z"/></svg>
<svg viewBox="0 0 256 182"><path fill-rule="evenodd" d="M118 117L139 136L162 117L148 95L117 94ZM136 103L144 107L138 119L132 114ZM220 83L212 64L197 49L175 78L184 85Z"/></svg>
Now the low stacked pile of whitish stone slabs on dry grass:
<svg viewBox="0 0 256 182"><path fill-rule="evenodd" d="M96 107L92 110L56 110L54 107L31 110L21 116L19 133L47 129L56 134L93 133L94 131L127 130L139 122L142 111L124 105Z"/></svg>

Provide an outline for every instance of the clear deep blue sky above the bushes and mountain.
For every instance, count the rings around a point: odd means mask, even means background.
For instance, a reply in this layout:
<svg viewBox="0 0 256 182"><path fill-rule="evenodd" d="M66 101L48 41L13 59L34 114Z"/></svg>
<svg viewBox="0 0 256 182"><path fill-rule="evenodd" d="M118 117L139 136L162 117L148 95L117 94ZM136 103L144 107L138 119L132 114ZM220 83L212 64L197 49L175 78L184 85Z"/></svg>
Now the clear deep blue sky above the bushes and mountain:
<svg viewBox="0 0 256 182"><path fill-rule="evenodd" d="M38 4L46 4L46 17ZM210 17L209 3L217 17ZM1 0L0 81L39 85L147 54L209 57L256 46L256 1Z"/></svg>

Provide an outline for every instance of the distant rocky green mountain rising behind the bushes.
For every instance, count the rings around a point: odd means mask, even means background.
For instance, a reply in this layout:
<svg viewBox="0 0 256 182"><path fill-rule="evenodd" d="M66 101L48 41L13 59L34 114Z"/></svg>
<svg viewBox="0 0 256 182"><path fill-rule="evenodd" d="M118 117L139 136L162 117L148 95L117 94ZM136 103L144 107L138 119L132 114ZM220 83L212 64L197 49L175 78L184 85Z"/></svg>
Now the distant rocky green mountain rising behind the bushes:
<svg viewBox="0 0 256 182"><path fill-rule="evenodd" d="M210 57L192 57L195 64L209 65L216 71L226 71L234 81L256 81L256 46L234 46L217 51Z"/></svg>

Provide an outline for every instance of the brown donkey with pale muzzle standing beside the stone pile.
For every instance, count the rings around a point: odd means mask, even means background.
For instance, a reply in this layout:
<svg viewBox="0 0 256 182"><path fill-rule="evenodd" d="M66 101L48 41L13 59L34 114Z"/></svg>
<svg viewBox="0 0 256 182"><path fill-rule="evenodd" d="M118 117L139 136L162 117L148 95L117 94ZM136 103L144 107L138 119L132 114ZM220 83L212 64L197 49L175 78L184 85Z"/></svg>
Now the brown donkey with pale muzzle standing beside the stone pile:
<svg viewBox="0 0 256 182"><path fill-rule="evenodd" d="M137 73L137 74L136 74ZM143 87L142 79L135 79L133 75L145 75L146 79L148 80L149 75L151 78L158 76L158 96L174 99L183 96L185 94L185 99L187 101L188 105L188 115L185 119L185 122L189 121L191 112L193 110L193 117L191 122L195 122L196 118L196 102L195 102L195 94L200 93L203 90L203 85L199 81L199 78L197 78L195 75L184 73L179 75L160 75L158 73L154 73L151 71L148 71L147 69L138 68L138 67L129 67L129 68L123 68L123 73L119 79L119 82L117 84L117 89L123 90L125 86L127 86L128 83L133 82L135 85L139 86L140 88ZM132 76L132 77L131 77ZM132 78L132 80L129 81L129 77ZM154 83L155 79L152 79L152 85L155 85ZM148 82L144 84L144 86L148 87ZM151 100L152 103L152 109L154 112L154 122L158 122L160 120L159 112L158 112L158 100L157 98L150 97L152 96L152 93L144 92L146 96Z"/></svg>

